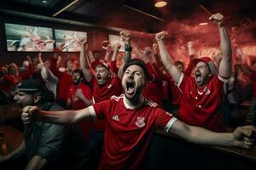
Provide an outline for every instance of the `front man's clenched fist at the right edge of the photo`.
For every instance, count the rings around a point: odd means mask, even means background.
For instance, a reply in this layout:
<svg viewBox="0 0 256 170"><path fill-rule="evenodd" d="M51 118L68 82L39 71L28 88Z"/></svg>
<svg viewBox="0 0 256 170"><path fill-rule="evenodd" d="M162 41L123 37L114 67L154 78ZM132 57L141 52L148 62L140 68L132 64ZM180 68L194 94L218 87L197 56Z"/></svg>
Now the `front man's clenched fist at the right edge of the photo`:
<svg viewBox="0 0 256 170"><path fill-rule="evenodd" d="M241 148L252 149L256 139L256 127L237 127L233 133L234 143Z"/></svg>

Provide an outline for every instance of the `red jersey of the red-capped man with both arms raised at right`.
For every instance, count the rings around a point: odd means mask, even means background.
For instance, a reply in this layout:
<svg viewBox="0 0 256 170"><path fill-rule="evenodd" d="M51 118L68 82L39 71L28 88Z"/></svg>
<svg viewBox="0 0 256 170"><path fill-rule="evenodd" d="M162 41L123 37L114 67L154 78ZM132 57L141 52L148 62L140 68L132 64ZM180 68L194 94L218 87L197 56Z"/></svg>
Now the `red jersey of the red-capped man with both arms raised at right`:
<svg viewBox="0 0 256 170"><path fill-rule="evenodd" d="M183 93L178 118L190 125L206 127L213 131L224 131L220 112L224 101L224 82L219 76L212 77L206 86L198 87L194 77L180 77L177 87Z"/></svg>

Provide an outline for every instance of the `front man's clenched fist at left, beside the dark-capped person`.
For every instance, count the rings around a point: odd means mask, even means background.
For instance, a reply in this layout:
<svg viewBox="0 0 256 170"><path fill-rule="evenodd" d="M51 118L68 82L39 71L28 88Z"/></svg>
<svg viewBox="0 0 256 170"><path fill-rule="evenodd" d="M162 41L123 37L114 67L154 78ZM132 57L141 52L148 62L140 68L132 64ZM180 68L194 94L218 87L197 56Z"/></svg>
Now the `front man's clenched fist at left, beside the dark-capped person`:
<svg viewBox="0 0 256 170"><path fill-rule="evenodd" d="M38 120L40 109L37 106L28 105L22 109L21 120L24 124L28 124Z"/></svg>

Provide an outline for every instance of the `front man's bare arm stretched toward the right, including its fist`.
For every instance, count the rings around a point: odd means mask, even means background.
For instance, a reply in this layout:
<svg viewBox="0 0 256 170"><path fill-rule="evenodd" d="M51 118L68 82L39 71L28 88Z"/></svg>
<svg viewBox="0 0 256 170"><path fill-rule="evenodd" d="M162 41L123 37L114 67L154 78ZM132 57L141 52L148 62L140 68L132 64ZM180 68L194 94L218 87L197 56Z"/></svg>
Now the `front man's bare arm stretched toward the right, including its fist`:
<svg viewBox="0 0 256 170"><path fill-rule="evenodd" d="M237 127L234 133L215 133L178 120L173 123L169 132L196 144L239 146L247 149L253 147L256 137L256 127L253 126Z"/></svg>

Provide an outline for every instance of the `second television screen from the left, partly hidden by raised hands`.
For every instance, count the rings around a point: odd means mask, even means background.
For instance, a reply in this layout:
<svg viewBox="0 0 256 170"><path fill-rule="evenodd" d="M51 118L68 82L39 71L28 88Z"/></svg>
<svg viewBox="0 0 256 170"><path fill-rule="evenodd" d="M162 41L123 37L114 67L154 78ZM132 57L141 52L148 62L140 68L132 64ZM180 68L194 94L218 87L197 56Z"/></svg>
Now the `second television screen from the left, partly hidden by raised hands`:
<svg viewBox="0 0 256 170"><path fill-rule="evenodd" d="M56 47L63 52L79 52L85 38L87 33L83 31L55 30Z"/></svg>

